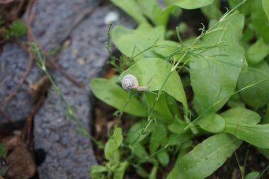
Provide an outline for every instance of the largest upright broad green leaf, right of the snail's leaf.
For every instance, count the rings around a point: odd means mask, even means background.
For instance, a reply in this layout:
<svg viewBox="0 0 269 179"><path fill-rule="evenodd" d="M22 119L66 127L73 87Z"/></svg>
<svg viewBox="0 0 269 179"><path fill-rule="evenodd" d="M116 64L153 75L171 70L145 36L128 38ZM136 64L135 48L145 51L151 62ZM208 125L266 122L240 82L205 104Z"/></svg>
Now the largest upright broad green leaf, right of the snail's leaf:
<svg viewBox="0 0 269 179"><path fill-rule="evenodd" d="M227 21L220 23L221 29L206 35L200 42L204 47L217 43L225 45L196 52L199 56L191 58L190 80L198 113L208 108L212 112L219 110L234 92L244 62L244 49L239 45L243 27L244 16L232 14ZM221 102L214 105L220 99Z"/></svg>

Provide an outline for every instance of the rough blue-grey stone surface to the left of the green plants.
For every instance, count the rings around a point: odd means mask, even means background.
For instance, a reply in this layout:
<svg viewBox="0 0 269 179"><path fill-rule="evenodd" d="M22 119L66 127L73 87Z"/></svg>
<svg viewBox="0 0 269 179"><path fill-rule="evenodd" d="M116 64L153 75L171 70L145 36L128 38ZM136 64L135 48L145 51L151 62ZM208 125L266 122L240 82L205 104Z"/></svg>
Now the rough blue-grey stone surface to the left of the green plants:
<svg viewBox="0 0 269 179"><path fill-rule="evenodd" d="M133 25L129 18L113 6L99 6L79 25L73 25L81 13L96 4L96 0L40 0L33 31L46 50L52 50L69 37L71 45L59 54L59 64L71 76L85 85L77 88L58 71L50 71L64 97L76 107L76 115L88 131L91 125L91 93L88 82L102 71L108 59L105 50L105 16L116 11L120 18L115 23ZM69 32L70 34L67 34ZM0 101L10 93L27 67L28 55L16 44L5 45L0 54ZM36 81L42 71L33 67L26 81ZM24 120L30 112L28 83L25 81L16 98L4 105L3 110L12 120ZM38 168L40 179L89 178L91 164L96 163L91 141L79 133L72 120L67 120L64 105L55 91L50 90L45 104L35 115L35 149L43 151L38 158L45 161ZM4 117L0 115L0 126ZM44 155L45 154L45 155Z"/></svg>

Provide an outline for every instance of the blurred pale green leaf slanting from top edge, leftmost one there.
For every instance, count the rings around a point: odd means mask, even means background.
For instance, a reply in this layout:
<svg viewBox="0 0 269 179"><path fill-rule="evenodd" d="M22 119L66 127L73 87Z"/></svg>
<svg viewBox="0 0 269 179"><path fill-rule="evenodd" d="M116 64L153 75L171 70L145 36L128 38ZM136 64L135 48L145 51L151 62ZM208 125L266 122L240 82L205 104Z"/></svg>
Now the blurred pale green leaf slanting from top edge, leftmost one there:
<svg viewBox="0 0 269 179"><path fill-rule="evenodd" d="M141 13L137 2L134 0L111 0L113 4L122 8L126 13L128 13L132 18L137 21L137 23L147 23L147 19Z"/></svg>

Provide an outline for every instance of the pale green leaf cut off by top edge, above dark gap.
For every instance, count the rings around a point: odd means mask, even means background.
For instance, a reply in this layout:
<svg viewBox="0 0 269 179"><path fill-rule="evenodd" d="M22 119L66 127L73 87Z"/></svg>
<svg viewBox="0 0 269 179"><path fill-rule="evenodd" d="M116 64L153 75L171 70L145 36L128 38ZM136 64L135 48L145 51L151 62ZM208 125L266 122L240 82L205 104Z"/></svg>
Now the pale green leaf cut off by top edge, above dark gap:
<svg viewBox="0 0 269 179"><path fill-rule="evenodd" d="M185 9L201 8L212 4L214 0L177 0L173 5Z"/></svg>

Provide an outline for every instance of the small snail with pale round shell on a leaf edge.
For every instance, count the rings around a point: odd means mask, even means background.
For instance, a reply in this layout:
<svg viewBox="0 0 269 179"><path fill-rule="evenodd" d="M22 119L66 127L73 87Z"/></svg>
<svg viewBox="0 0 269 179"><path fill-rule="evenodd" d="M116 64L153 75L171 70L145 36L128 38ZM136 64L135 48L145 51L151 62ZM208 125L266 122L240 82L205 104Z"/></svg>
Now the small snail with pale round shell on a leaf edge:
<svg viewBox="0 0 269 179"><path fill-rule="evenodd" d="M124 88L126 91L130 91L131 89L135 89L137 91L148 91L147 86L139 86L137 77L132 74L123 76L122 88Z"/></svg>

